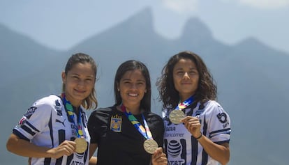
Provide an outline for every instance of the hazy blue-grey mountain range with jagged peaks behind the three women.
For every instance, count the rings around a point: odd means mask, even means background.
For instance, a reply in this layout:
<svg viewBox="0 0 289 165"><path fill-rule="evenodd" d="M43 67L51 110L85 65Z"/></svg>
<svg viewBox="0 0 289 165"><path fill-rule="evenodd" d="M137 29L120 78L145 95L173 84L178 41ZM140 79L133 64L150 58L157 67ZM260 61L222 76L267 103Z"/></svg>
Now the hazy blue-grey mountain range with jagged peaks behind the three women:
<svg viewBox="0 0 289 165"><path fill-rule="evenodd" d="M95 58L98 107L113 104L114 74L120 63L128 59L144 62L151 73L152 111L161 114L154 86L156 79L170 56L190 50L202 56L211 70L218 85L218 102L230 114L229 164L287 164L289 161L285 155L289 148L289 129L286 127L289 125L289 111L286 111L289 54L272 49L255 38L225 45L214 38L206 24L193 17L179 38L168 40L155 32L150 8L87 38L67 52L38 45L4 26L0 26L0 35L5 35L0 38L1 51L5 52L0 59L6 60L1 65L0 75L7 79L1 79L0 86L5 93L0 101L1 124L8 126L0 136L1 148L5 148L11 129L36 99L60 93L61 71L71 54L84 52ZM12 70L13 77L6 74L6 70ZM4 164L27 161L5 149L0 157Z"/></svg>

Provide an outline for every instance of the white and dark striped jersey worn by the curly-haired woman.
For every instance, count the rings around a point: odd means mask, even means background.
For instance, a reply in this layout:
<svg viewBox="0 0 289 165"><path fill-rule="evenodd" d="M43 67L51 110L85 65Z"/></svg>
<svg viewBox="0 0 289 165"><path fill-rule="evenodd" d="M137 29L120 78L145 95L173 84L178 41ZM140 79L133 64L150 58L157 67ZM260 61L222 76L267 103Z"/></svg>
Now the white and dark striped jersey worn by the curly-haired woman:
<svg viewBox="0 0 289 165"><path fill-rule="evenodd" d="M209 157L200 143L184 127L183 123L171 123L168 115L173 109L163 111L165 123L164 145L168 156L168 164L218 164ZM230 118L218 102L209 100L205 104L191 104L183 109L186 116L198 116L201 123L201 132L214 143L229 143Z"/></svg>

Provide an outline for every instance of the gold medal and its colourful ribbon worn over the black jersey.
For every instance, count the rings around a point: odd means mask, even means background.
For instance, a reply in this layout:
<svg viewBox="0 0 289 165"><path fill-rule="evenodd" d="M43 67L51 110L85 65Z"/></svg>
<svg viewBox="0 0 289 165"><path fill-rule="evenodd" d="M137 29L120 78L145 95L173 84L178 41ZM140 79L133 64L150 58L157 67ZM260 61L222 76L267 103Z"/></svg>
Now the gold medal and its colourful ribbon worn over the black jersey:
<svg viewBox="0 0 289 165"><path fill-rule="evenodd" d="M140 134L142 134L142 136L147 139L144 141L144 150L147 151L149 154L154 154L154 151L158 148L158 143L156 143L156 141L154 141L154 139L152 138L151 131L149 130L149 126L147 125L147 121L145 120L143 113L142 120L144 121L145 129L130 111L126 111L126 107L124 107L124 104L121 104L121 110L126 114L128 120L131 121L133 126L138 129L138 132L140 132Z"/></svg>

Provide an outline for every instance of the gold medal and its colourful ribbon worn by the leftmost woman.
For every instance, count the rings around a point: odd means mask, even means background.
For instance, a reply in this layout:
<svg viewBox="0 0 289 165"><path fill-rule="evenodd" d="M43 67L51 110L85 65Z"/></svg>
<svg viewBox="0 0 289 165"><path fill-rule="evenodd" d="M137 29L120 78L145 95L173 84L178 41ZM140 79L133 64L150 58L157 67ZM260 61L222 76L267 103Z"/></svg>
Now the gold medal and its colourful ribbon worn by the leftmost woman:
<svg viewBox="0 0 289 165"><path fill-rule="evenodd" d="M68 116L69 118L71 118L71 120L73 120L73 124L76 127L77 138L75 139L75 143L76 143L75 151L77 153L83 153L85 150L87 150L87 141L83 137L82 124L81 124L81 111L79 111L80 115L78 117L78 122L76 125L74 122L74 111L73 111L71 102L66 100L64 93L61 94L61 97L62 97L62 100L64 101L65 109L68 113Z"/></svg>

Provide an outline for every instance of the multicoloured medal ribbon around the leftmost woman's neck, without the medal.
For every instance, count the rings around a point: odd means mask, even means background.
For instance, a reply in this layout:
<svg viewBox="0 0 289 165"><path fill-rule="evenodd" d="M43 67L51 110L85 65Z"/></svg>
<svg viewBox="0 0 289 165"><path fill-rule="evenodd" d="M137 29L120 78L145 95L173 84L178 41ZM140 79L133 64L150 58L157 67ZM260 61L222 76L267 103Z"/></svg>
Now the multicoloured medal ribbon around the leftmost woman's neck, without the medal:
<svg viewBox="0 0 289 165"><path fill-rule="evenodd" d="M80 116L78 118L77 125L76 125L75 121L74 121L74 114L75 113L73 111L73 106L71 105L71 102L66 100L64 93L61 93L61 97L62 97L62 100L64 102L64 106L65 106L66 112L68 113L69 118L71 118L71 120L73 120L73 124L76 128L77 138L82 137L83 132L82 132L82 125L81 125L81 111L80 111Z"/></svg>

